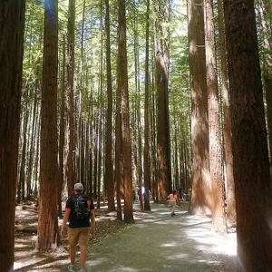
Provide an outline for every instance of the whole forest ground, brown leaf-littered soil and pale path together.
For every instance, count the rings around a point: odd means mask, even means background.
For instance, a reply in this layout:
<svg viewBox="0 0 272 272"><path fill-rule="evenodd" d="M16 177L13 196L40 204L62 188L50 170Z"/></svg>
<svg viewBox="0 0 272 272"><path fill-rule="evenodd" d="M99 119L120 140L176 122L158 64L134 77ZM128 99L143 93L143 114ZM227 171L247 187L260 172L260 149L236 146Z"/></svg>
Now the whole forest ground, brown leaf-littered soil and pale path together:
<svg viewBox="0 0 272 272"><path fill-rule="evenodd" d="M169 207L163 204L152 204L152 211L146 213L140 212L139 205L134 208L133 225L116 221L114 213L97 211L97 230L88 248L88 271L235 271L234 233L216 234L211 230L211 219L190 216L186 204L179 206L175 217L170 217ZM52 254L34 250L36 233L31 231L36 220L34 208L17 207L15 271L67 271L66 238Z"/></svg>

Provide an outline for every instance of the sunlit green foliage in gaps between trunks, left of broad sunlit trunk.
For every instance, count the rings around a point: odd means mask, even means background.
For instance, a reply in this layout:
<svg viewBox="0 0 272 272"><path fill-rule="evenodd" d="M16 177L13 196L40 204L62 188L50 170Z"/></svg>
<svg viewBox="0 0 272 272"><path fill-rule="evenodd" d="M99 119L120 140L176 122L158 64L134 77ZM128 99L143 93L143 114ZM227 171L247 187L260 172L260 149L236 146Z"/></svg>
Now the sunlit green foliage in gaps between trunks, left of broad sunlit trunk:
<svg viewBox="0 0 272 272"><path fill-rule="evenodd" d="M85 10L83 15L83 6ZM154 29L156 12L151 1L150 12L150 76L151 92L155 93L154 73ZM63 43L67 44L68 0L59 1L59 90L62 89ZM158 4L158 3L157 3ZM110 1L111 50L112 50L112 87L113 101L116 93L117 70L117 0ZM170 9L170 124L171 139L175 126L181 136L180 141L189 146L190 98L189 98L189 49L187 38L186 1L175 0ZM138 102L141 108L141 128L144 116L144 81L145 81L145 28L146 0L127 1L127 52L131 119L135 117ZM105 70L105 34L104 34L104 1L76 0L74 24L74 102L75 119L81 111L83 121L90 121L106 109L106 70ZM44 2L26 0L25 33L24 33L24 73L22 118L34 102L34 96L40 97L43 73L43 34ZM67 48L66 48L67 49ZM138 63L138 77L135 84L135 58ZM102 81L102 83L101 83ZM102 89L101 89L102 86ZM64 86L65 87L65 86ZM61 102L59 92L59 108ZM113 105L114 109L114 105ZM114 114L113 114L114 116ZM30 122L32 122L31 120ZM113 120L114 123L114 120ZM93 128L93 121L92 121ZM135 128L131 127L131 131ZM143 139L143 129L142 139ZM36 136L37 137L37 136ZM181 139L182 138L182 139Z"/></svg>

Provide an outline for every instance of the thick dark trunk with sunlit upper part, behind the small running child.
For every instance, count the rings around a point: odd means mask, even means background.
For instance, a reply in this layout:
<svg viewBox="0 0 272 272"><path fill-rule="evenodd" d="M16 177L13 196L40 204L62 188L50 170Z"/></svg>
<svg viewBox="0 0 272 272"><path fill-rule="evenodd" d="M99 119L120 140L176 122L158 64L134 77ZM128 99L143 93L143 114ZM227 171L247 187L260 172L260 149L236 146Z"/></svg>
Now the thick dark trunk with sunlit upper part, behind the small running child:
<svg viewBox="0 0 272 272"><path fill-rule="evenodd" d="M170 1L156 4L156 85L157 85L157 146L158 185L160 199L166 199L171 190L170 117L169 117L169 16Z"/></svg>

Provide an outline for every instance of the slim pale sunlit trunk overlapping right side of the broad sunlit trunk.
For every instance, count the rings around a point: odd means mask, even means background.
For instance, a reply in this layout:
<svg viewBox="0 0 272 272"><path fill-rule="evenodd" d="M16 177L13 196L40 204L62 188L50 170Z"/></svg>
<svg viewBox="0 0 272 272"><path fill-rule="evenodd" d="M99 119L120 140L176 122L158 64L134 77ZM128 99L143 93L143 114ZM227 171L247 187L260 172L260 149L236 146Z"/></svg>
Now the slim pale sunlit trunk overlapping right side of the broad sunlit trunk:
<svg viewBox="0 0 272 272"><path fill-rule="evenodd" d="M225 184L220 142L219 86L212 0L204 0L204 22L209 115L209 172L213 199L212 223L216 231L226 233Z"/></svg>

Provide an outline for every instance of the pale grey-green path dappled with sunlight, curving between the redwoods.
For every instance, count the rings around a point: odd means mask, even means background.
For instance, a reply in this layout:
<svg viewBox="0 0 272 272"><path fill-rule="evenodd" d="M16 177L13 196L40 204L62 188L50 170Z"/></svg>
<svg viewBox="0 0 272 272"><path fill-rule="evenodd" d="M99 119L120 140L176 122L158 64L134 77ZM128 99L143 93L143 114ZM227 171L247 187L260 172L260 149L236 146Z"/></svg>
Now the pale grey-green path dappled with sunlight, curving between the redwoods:
<svg viewBox="0 0 272 272"><path fill-rule="evenodd" d="M219 236L211 220L165 205L94 247L89 271L235 271L235 235Z"/></svg>

